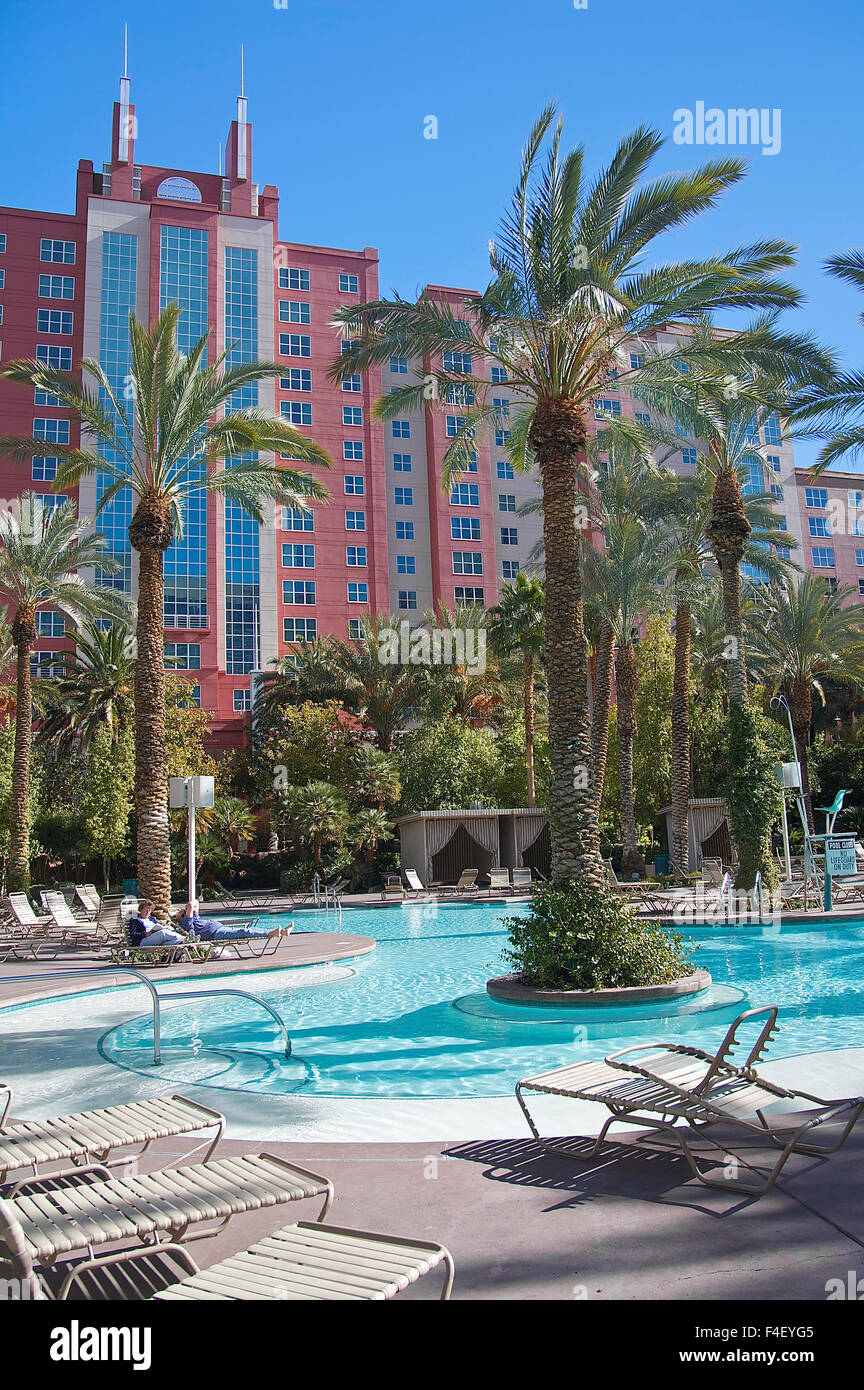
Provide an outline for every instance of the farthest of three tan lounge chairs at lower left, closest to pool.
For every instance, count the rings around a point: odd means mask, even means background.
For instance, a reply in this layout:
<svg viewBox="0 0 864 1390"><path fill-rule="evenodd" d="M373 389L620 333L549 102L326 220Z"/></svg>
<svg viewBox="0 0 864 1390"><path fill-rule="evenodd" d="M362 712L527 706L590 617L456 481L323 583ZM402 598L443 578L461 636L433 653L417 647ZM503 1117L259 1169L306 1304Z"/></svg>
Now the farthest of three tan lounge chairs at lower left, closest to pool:
<svg viewBox="0 0 864 1390"><path fill-rule="evenodd" d="M194 1134L215 1126L217 1133L204 1154L207 1162L225 1125L225 1116L218 1111L210 1111L185 1095L160 1095L47 1120L7 1120L11 1102L11 1087L0 1081L0 1184L8 1183L14 1173L29 1172L35 1177L46 1165L67 1161L115 1168L140 1158L154 1140ZM115 1150L131 1147L138 1147L138 1152L110 1156Z"/></svg>

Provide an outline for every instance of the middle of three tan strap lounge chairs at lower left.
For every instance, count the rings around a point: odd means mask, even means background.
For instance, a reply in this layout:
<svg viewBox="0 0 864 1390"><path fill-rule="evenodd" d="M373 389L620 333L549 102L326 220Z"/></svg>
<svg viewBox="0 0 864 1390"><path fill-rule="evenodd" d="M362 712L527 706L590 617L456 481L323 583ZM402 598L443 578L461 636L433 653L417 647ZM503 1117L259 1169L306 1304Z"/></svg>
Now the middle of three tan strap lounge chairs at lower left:
<svg viewBox="0 0 864 1390"><path fill-rule="evenodd" d="M50 1269L75 1254L92 1259L100 1245L204 1240L232 1216L307 1197L324 1197L321 1219L333 1201L326 1177L267 1152L72 1187L51 1188L49 1180L32 1186L32 1195L19 1184L15 1197L0 1201L0 1269L4 1259L22 1255ZM74 1273L58 1297L65 1297Z"/></svg>

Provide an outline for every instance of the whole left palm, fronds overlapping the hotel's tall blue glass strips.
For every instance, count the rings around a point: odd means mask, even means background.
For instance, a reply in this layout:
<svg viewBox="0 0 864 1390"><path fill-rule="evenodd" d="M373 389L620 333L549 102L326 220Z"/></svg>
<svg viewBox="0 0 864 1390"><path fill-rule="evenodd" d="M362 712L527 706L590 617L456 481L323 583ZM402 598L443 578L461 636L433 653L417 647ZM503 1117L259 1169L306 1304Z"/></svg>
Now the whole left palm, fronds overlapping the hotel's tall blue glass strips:
<svg viewBox="0 0 864 1390"><path fill-rule="evenodd" d="M189 498L200 489L242 506L256 521L265 506L283 502L306 507L326 492L310 474L263 461L260 453L283 455L326 467L328 455L281 417L258 409L233 409L239 392L264 377L278 377L278 363L228 366L231 349L207 363L207 338L188 354L178 349L181 310L169 304L150 332L129 320L129 375L122 396L99 361L81 370L96 391L43 363L8 363L3 375L47 391L76 413L94 441L89 449L57 445L61 459L54 486L76 486L86 474L111 480L99 509L129 488L135 509L129 542L139 555L138 662L135 667L135 799L138 877L142 897L167 915L171 905L171 844L165 771L165 662L163 631L163 562L183 534ZM32 439L0 438L0 452L26 459ZM233 466L232 466L233 463ZM104 566L103 566L104 569Z"/></svg>

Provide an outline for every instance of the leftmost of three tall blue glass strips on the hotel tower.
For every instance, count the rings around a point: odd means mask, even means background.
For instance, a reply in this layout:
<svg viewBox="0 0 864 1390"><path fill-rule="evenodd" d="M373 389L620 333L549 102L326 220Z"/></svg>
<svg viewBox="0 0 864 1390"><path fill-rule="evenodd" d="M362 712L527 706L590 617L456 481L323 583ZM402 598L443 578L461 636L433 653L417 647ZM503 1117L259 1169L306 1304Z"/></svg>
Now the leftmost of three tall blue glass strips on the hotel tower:
<svg viewBox="0 0 864 1390"><path fill-rule="evenodd" d="M99 320L99 360L108 381L121 400L128 391L129 374L129 314L135 311L135 282L138 274L138 236L126 232L103 232L101 238L101 309ZM104 391L100 391L103 409L113 411L111 402ZM129 409L129 416L132 410ZM118 432L129 438L124 424ZM113 463L119 456L104 449L104 457ZM96 496L111 486L113 478L107 473L96 475ZM115 574L96 571L96 582L108 588L124 589L126 594L132 588L132 548L129 545L129 523L132 520L132 489L122 488L118 495L108 502L99 514L99 530L104 535L108 549L122 564Z"/></svg>

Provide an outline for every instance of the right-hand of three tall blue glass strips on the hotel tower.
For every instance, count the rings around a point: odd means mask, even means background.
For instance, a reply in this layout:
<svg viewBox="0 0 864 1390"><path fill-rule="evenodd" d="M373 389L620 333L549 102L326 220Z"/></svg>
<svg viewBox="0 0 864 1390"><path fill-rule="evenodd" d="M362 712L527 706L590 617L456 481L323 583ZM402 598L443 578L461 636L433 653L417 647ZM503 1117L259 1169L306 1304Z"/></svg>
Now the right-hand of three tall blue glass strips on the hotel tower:
<svg viewBox="0 0 864 1390"><path fill-rule="evenodd" d="M258 253L225 247L225 345L228 366L258 357ZM235 391L231 410L258 404L257 382ZM225 466L251 461L253 455L226 459ZM225 502L225 667L243 676L258 664L260 528L235 502Z"/></svg>

